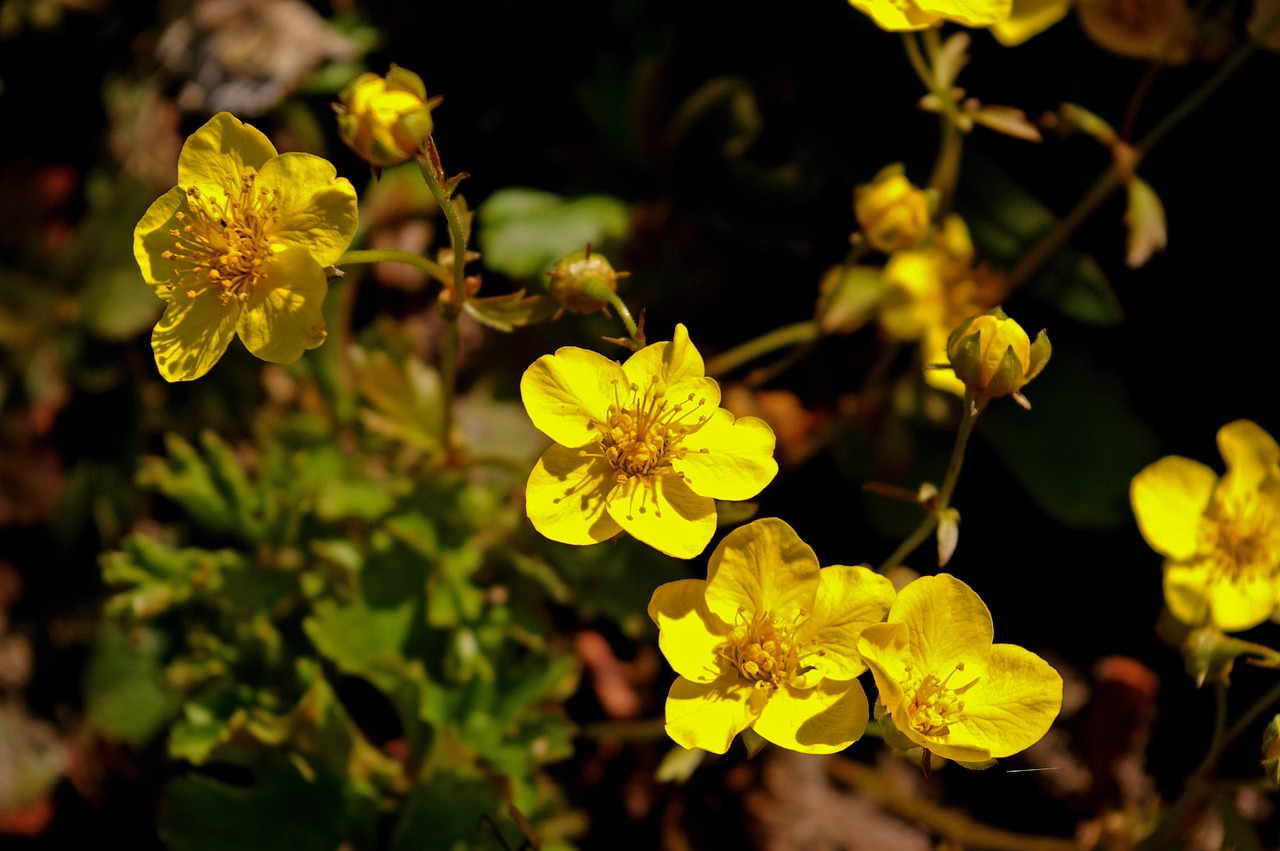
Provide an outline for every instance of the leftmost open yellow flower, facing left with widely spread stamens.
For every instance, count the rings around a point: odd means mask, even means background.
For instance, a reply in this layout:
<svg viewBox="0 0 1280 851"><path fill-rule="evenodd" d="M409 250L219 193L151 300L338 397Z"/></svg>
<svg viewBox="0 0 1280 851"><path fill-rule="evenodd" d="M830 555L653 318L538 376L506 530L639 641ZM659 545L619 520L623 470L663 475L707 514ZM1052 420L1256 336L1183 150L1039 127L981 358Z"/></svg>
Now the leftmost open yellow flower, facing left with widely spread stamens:
<svg viewBox="0 0 1280 851"><path fill-rule="evenodd" d="M324 342L325 266L356 233L356 191L326 160L276 154L257 129L219 113L178 156L178 186L133 230L133 256L163 301L151 334L160 375L207 372L239 334L291 363Z"/></svg>

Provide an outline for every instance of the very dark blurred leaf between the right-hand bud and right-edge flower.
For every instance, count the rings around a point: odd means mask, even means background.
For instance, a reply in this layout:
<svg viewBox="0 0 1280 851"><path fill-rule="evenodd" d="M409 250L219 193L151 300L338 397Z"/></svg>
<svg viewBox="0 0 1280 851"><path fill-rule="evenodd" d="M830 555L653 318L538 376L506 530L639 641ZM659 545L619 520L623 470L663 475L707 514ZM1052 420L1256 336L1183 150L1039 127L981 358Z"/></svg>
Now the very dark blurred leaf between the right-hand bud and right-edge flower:
<svg viewBox="0 0 1280 851"><path fill-rule="evenodd" d="M993 404L978 433L1060 523L1117 529L1133 522L1129 481L1160 447L1129 407L1120 380L1088 352L1059 347L1028 389L1029 412Z"/></svg>

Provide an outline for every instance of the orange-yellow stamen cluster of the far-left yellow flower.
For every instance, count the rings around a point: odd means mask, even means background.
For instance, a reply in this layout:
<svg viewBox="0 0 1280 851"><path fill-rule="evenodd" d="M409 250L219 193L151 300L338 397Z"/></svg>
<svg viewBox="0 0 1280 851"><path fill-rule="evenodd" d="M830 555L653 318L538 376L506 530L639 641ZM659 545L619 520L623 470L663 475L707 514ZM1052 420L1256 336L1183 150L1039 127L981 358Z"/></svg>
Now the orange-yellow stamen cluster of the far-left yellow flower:
<svg viewBox="0 0 1280 851"><path fill-rule="evenodd" d="M174 262L170 292L187 290L187 298L206 292L223 305L248 299L248 290L275 260L271 237L280 224L280 191L257 186L257 171L224 179L225 197L206 197L200 187L187 188L187 211L178 212L179 227L169 230L173 248L161 256Z"/></svg>

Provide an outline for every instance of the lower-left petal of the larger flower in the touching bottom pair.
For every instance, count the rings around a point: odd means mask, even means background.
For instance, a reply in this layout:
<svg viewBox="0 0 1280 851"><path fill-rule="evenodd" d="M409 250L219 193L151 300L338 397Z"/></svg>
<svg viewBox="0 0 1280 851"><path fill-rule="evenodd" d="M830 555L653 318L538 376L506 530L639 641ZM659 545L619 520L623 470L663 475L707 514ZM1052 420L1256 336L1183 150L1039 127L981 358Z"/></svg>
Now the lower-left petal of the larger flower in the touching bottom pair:
<svg viewBox="0 0 1280 851"><path fill-rule="evenodd" d="M764 692L742 686L736 672L714 682L677 677L667 695L667 735L682 747L723 754L755 722L764 700Z"/></svg>

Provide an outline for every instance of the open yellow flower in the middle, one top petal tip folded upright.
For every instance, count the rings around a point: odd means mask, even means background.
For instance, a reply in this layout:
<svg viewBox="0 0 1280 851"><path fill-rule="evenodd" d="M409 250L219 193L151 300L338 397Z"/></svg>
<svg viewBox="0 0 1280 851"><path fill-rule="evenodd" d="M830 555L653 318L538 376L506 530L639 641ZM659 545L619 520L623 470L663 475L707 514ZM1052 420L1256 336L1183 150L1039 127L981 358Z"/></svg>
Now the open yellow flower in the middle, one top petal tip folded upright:
<svg viewBox="0 0 1280 851"><path fill-rule="evenodd" d="M520 393L557 444L529 476L529 520L563 544L626 531L692 558L716 531L716 500L750 499L778 471L773 430L719 407L719 385L684 325L622 365L557 349L525 371Z"/></svg>

